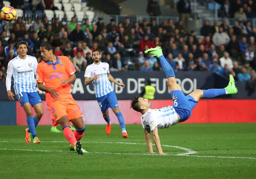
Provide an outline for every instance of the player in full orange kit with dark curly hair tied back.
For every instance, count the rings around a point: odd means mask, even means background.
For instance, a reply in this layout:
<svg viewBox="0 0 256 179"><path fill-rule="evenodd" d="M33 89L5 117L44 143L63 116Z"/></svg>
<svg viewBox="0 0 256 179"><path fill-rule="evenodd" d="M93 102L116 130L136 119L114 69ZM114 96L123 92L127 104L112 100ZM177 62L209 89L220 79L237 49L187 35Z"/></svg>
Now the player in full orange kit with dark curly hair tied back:
<svg viewBox="0 0 256 179"><path fill-rule="evenodd" d="M75 67L68 57L54 55L55 47L62 44L61 38L54 38L52 42L46 41L41 44L43 62L37 65L36 81L38 88L45 92L53 123L61 125L64 136L71 144L70 150L82 155L87 152L82 149L80 142L85 130L83 114L72 94L69 93L71 83L76 80ZM69 120L76 128L74 132L71 130Z"/></svg>

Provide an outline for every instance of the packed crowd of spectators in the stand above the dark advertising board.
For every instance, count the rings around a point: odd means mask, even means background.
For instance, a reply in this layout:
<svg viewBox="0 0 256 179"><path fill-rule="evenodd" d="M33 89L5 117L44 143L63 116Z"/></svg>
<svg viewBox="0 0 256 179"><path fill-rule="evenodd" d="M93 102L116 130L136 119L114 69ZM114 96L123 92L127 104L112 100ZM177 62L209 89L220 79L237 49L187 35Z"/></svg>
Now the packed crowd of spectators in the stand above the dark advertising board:
<svg viewBox="0 0 256 179"><path fill-rule="evenodd" d="M115 19L104 24L102 18L95 24L84 19L82 25L77 24L76 17L66 25L58 17L52 23L40 16L34 22L30 18L24 22L18 17L13 24L0 19L0 65L5 71L9 60L17 56L16 44L21 40L27 42L28 54L35 56L39 63L42 61L40 44L58 36L64 45L57 47L55 54L68 56L77 72L93 63L94 49L101 51L102 61L109 63L112 71L161 70L157 58L144 54L145 49L161 46L175 71L213 71L224 76L232 74L239 81L256 80L256 28L246 18L236 21L232 27L227 20L221 24L215 21L213 26L205 20L201 36L186 29L182 20L173 23L169 19L157 25L154 18L134 24L126 18L117 26ZM7 41L6 37L9 37Z"/></svg>

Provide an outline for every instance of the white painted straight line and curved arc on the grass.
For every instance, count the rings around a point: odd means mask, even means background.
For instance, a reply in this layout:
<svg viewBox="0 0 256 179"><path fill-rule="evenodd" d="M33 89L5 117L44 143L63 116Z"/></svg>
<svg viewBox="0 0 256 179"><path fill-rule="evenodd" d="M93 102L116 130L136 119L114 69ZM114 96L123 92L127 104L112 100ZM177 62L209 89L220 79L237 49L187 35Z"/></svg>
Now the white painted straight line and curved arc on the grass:
<svg viewBox="0 0 256 179"><path fill-rule="evenodd" d="M0 141L1 142L8 142L8 141ZM18 141L18 142L23 142L23 141ZM66 141L42 141L42 142L54 142L54 143L66 143ZM120 143L120 144L132 144L132 145L145 145L145 143L130 143L130 142L86 142L84 141L83 143ZM154 144L153 144L154 145ZM254 157L231 157L231 156L202 156L202 155L191 155L194 153L197 153L196 151L188 148L183 148L179 146L169 146L169 145L162 145L164 147L173 147L177 149L182 149L185 150L187 153L182 153L182 154L167 154L163 156L193 156L193 157L208 157L208 158L229 158L229 159L256 159ZM63 152L63 151L51 151L51 150L31 150L31 149L6 149L3 148L0 150L18 150L18 151L38 151L38 152ZM116 154L116 155L160 155L160 154L149 154L149 153L113 153L113 152L88 152L88 153L96 153L96 154Z"/></svg>

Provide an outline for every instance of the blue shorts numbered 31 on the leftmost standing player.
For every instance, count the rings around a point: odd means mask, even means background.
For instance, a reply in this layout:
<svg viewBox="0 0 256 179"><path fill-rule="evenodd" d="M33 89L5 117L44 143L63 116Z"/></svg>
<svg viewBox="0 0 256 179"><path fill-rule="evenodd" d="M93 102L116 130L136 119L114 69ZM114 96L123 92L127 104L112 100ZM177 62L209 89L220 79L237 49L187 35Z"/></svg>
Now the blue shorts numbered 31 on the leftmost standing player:
<svg viewBox="0 0 256 179"><path fill-rule="evenodd" d="M42 100L37 92L32 92L32 93L19 92L16 95L16 97L18 98L19 103L21 103L21 107L25 103L30 103L32 107L38 103L42 103Z"/></svg>

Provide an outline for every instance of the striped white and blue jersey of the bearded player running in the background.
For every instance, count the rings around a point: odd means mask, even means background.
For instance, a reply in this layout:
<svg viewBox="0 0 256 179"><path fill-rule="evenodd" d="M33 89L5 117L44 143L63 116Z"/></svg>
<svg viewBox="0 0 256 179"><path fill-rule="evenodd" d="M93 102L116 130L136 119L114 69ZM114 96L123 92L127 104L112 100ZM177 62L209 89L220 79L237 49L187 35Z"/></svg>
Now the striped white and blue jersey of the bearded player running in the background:
<svg viewBox="0 0 256 179"><path fill-rule="evenodd" d="M109 73L108 63L101 62L99 65L93 63L87 66L85 69L84 77L92 78L94 76L94 73L96 75L100 75L97 80L93 80L92 82L97 98L114 91L111 82L109 81L109 77L107 76L107 74Z"/></svg>

